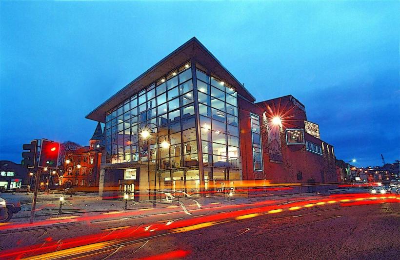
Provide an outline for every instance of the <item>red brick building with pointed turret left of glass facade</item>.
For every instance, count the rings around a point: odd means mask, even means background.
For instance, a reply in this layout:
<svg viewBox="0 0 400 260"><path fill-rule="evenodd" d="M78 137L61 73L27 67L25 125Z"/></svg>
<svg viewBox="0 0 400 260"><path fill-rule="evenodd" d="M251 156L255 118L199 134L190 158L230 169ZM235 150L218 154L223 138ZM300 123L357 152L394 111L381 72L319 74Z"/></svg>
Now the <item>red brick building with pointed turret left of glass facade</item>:
<svg viewBox="0 0 400 260"><path fill-rule="evenodd" d="M89 146L83 146L66 155L61 185L65 188L80 187L83 190L98 189L101 155L104 151L103 141L103 132L98 123L89 140Z"/></svg>

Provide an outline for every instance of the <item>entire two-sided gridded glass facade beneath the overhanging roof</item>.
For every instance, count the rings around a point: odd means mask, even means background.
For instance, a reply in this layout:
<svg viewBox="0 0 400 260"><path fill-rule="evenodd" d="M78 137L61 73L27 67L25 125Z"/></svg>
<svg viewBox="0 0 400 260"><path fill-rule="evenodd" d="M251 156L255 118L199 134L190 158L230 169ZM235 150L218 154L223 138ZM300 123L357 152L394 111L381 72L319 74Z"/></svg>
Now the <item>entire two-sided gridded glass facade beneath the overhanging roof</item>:
<svg viewBox="0 0 400 260"><path fill-rule="evenodd" d="M240 180L237 92L192 66L181 64L106 113L105 162L147 166L148 189L196 194Z"/></svg>

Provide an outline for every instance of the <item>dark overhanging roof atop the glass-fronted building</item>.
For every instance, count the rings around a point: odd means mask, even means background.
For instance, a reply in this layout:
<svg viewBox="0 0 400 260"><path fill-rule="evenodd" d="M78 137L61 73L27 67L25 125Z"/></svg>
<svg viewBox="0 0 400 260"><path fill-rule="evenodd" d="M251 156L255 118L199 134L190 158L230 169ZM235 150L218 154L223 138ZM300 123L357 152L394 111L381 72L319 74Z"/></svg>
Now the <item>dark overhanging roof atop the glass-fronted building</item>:
<svg viewBox="0 0 400 260"><path fill-rule="evenodd" d="M165 74L171 72L176 67L181 64L187 62L190 59L194 59L199 62L201 65L209 69L212 73L217 75L221 80L225 81L232 87L234 87L238 94L242 97L255 101L256 99L248 92L243 85L237 80L221 63L214 55L209 52L203 44L195 37L188 40L184 44L182 44L175 51L170 53L164 59L160 60L154 66L149 68L143 74L141 74L138 78L131 81L125 87L123 87L120 91L118 91L115 95L113 95L108 100L104 101L100 106L98 106L95 110L90 112L86 118L105 122L106 113L112 108L119 105L124 100L128 99L132 95L136 94L143 88L147 87L154 81L160 79L160 77Z"/></svg>

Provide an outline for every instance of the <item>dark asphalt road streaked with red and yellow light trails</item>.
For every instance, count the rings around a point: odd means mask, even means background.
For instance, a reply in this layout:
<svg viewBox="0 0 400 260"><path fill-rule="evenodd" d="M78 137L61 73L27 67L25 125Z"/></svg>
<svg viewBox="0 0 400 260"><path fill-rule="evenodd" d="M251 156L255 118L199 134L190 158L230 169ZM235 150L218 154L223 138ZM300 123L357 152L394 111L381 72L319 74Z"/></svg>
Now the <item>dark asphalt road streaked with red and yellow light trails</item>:
<svg viewBox="0 0 400 260"><path fill-rule="evenodd" d="M3 230L0 259L399 259L399 202L315 203L323 199L208 205L191 208L191 216L154 209ZM296 203L302 206L289 210Z"/></svg>

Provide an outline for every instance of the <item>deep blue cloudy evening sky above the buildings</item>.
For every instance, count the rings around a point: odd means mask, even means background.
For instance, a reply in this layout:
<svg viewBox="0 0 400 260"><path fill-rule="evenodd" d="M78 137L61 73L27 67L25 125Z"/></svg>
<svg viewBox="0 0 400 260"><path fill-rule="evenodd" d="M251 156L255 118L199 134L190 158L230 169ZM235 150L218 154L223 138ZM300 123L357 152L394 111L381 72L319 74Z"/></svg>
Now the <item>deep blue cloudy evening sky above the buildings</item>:
<svg viewBox="0 0 400 260"><path fill-rule="evenodd" d="M292 94L338 159L400 157L398 1L0 1L0 160L88 145L85 115L196 36L257 97Z"/></svg>

